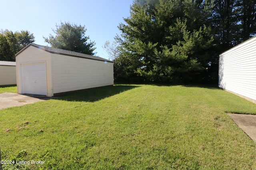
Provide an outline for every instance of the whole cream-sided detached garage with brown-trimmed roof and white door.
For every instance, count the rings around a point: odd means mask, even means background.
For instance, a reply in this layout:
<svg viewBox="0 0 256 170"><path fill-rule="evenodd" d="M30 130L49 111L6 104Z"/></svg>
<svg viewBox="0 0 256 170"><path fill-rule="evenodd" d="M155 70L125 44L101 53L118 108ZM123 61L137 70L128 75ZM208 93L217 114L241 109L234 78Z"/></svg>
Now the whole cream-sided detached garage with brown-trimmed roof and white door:
<svg viewBox="0 0 256 170"><path fill-rule="evenodd" d="M113 62L30 43L16 55L18 94L54 96L114 84Z"/></svg>

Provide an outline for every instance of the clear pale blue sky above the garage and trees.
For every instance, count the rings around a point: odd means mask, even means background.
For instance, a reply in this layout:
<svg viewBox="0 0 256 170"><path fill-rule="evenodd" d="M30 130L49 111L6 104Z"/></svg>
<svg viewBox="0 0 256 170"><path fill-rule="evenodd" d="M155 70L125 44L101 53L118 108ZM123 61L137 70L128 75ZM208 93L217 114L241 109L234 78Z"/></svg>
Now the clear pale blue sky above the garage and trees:
<svg viewBox="0 0 256 170"><path fill-rule="evenodd" d="M96 43L96 55L108 59L102 46L120 34L117 26L130 16L133 0L1 0L0 29L28 30L39 45L43 36L54 35L60 22L85 25L86 35Z"/></svg>

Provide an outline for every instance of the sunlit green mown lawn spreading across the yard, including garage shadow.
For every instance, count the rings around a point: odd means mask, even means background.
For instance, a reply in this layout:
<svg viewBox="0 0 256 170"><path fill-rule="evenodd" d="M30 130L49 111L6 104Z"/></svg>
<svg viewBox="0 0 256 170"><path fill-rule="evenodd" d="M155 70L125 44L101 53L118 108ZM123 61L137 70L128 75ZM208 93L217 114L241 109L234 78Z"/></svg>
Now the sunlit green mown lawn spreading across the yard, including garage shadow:
<svg viewBox="0 0 256 170"><path fill-rule="evenodd" d="M2 160L45 161L3 168L256 168L256 143L226 112L256 104L218 88L119 84L2 109Z"/></svg>

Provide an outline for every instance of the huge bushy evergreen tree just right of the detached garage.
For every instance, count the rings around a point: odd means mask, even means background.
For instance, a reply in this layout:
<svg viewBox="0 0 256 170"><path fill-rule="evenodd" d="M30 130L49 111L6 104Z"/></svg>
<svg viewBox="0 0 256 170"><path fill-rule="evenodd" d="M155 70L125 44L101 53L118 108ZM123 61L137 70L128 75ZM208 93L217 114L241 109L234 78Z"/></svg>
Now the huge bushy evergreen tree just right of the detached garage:
<svg viewBox="0 0 256 170"><path fill-rule="evenodd" d="M130 18L124 19L126 25L119 25L122 35L117 37L121 54L116 64L127 77L146 82L190 82L209 67L213 37L204 23L210 22L207 17L197 19L206 12L206 2L191 2L133 4Z"/></svg>

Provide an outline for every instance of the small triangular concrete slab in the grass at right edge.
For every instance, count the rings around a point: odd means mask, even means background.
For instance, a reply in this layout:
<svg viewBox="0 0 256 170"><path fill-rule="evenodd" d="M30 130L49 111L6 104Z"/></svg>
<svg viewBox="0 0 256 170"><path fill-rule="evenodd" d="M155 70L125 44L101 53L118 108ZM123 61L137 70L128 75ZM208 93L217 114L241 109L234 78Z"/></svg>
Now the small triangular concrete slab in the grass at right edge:
<svg viewBox="0 0 256 170"><path fill-rule="evenodd" d="M228 113L232 120L256 142L256 115Z"/></svg>

